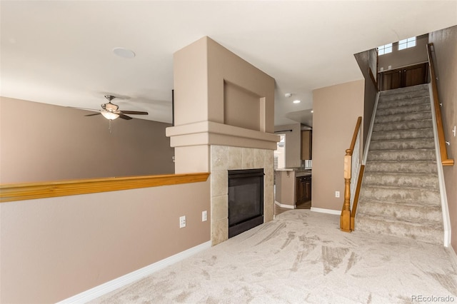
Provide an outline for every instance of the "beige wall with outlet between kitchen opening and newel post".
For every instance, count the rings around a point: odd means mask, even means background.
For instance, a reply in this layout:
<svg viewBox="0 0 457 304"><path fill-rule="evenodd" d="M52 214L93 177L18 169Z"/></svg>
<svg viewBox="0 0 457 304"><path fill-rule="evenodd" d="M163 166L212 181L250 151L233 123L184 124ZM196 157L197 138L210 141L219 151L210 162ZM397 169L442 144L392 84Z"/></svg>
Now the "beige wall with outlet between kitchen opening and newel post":
<svg viewBox="0 0 457 304"><path fill-rule="evenodd" d="M364 81L358 80L313 91L313 208L341 211L343 158L357 117L363 116L363 88Z"/></svg>

